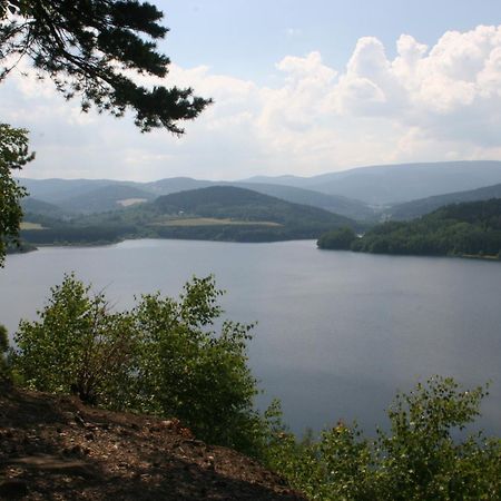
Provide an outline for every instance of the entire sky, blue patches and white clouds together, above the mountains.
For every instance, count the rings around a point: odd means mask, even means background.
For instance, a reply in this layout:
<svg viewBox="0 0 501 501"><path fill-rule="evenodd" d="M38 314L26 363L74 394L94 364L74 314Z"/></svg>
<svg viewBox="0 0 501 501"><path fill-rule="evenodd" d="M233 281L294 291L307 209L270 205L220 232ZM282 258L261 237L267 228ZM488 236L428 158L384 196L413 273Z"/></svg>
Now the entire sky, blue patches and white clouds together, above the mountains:
<svg viewBox="0 0 501 501"><path fill-rule="evenodd" d="M30 131L23 176L234 180L501 160L499 0L150 1L170 29L161 84L214 105L180 138L141 134L130 115L81 112L22 61L0 85L0 121Z"/></svg>

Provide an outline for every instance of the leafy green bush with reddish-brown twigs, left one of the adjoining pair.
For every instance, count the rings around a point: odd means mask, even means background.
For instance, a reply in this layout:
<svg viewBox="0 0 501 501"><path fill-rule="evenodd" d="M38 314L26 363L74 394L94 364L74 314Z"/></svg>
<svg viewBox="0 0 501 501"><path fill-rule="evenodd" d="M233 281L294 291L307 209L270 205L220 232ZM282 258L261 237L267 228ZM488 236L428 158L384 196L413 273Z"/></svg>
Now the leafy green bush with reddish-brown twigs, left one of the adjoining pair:
<svg viewBox="0 0 501 501"><path fill-rule="evenodd" d="M40 320L20 322L13 369L29 387L121 407L134 369L132 322L89 291L73 275L51 288Z"/></svg>

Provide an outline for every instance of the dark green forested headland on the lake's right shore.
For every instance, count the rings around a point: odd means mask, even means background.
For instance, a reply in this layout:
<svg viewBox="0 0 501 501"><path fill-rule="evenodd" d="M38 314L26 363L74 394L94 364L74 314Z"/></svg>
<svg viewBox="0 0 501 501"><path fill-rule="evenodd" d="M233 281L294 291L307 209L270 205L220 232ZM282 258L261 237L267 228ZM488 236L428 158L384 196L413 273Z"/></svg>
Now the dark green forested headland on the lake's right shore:
<svg viewBox="0 0 501 501"><path fill-rule="evenodd" d="M336 235L323 238L336 242ZM338 239L338 238L337 238ZM323 245L328 248L327 245ZM501 199L454 204L407 223L390 222L353 236L352 250L376 254L501 256Z"/></svg>

